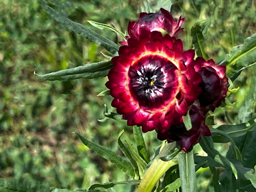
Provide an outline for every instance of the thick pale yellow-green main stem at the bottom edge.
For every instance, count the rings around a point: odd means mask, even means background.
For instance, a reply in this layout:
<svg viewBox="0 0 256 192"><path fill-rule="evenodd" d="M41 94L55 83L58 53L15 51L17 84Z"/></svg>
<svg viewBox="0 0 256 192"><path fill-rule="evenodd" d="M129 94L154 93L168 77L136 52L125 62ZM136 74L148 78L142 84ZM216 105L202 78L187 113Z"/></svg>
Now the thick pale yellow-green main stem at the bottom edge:
<svg viewBox="0 0 256 192"><path fill-rule="evenodd" d="M172 166L177 165L177 160L162 161L155 159L143 176L136 192L151 192L157 181Z"/></svg>

